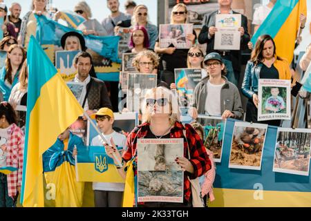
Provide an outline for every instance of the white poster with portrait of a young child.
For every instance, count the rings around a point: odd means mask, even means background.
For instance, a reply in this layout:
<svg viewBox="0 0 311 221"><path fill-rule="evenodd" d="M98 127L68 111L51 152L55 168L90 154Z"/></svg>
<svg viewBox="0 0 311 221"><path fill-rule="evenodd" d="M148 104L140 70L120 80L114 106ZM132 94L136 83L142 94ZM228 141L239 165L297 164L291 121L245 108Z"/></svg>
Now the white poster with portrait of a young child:
<svg viewBox="0 0 311 221"><path fill-rule="evenodd" d="M258 79L258 121L290 119L290 80Z"/></svg>

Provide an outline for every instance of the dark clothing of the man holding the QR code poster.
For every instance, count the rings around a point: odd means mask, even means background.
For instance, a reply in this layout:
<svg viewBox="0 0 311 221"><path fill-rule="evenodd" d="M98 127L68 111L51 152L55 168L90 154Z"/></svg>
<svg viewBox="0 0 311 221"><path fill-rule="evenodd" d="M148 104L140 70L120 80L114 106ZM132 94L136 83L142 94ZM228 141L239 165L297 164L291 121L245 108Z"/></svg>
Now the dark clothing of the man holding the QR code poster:
<svg viewBox="0 0 311 221"><path fill-rule="evenodd" d="M211 39L208 38L209 33L209 27L215 26L216 24L216 14L218 13L218 10L215 12L211 12L208 15L205 15L205 25L202 27L202 30L200 32L200 35L198 36L198 42L200 44L207 43L207 54L210 52L218 52L217 50L214 50L214 36L211 37ZM234 14L240 14L238 12L233 12ZM247 43L250 40L248 30L247 30L247 17L242 15L241 17L241 26L244 28L244 35L241 37L241 50L244 50L247 48ZM232 61L232 67L234 70L241 72L241 50L230 50L230 57Z"/></svg>

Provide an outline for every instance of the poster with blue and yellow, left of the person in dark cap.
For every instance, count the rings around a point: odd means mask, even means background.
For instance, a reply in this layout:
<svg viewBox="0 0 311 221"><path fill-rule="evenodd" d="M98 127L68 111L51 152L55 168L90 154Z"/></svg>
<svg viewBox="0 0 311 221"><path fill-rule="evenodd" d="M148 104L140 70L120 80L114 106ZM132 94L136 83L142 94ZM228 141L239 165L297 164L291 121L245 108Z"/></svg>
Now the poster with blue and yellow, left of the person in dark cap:
<svg viewBox="0 0 311 221"><path fill-rule="evenodd" d="M201 68L175 69L175 84L180 107L190 106L194 99L194 88L196 88L201 79Z"/></svg>

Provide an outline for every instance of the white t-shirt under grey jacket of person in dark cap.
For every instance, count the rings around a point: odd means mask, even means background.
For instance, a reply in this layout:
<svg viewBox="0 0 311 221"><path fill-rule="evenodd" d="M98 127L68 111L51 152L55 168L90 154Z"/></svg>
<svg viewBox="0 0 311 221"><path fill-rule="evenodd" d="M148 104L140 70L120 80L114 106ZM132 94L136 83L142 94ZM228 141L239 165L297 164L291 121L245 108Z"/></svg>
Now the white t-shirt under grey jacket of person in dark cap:
<svg viewBox="0 0 311 221"><path fill-rule="evenodd" d="M205 102L205 111L211 116L221 116L220 109L220 90L223 88L224 84L211 84L207 81L207 98Z"/></svg>

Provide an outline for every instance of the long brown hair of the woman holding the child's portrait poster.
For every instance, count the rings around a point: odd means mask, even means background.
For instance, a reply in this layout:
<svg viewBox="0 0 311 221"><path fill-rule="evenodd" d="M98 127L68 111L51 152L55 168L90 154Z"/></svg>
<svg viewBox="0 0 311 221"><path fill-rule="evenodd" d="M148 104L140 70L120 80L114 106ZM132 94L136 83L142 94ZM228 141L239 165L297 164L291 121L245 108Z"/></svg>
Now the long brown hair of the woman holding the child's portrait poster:
<svg viewBox="0 0 311 221"><path fill-rule="evenodd" d="M252 56L250 59L250 61L253 61L255 65L263 61L263 46L265 46L265 43L267 41L272 41L272 44L274 46L273 56L276 56L276 46L272 37L270 35L261 35L256 41L255 49L252 51ZM279 56L276 56L276 59L282 60Z"/></svg>

